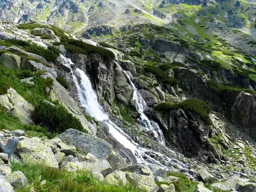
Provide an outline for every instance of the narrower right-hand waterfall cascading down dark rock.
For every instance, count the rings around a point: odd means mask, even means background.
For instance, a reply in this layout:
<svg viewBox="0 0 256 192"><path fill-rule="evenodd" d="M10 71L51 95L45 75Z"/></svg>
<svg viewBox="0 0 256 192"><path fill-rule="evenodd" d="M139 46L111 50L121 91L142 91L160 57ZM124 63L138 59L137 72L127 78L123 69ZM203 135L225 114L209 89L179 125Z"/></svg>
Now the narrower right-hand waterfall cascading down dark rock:
<svg viewBox="0 0 256 192"><path fill-rule="evenodd" d="M154 136L157 138L157 140L162 145L165 146L162 130L160 129L159 125L156 122L154 122L153 120L149 120L148 117L145 115L144 111L145 111L145 108L147 107L147 104L143 99L143 97L138 92L137 87L131 81L131 78L128 75L128 73L126 71L124 72L126 73L127 78L131 84L131 87L134 90L132 100L135 101L137 104L137 112L140 114L140 118L138 119L140 125L143 126L147 131L153 131Z"/></svg>

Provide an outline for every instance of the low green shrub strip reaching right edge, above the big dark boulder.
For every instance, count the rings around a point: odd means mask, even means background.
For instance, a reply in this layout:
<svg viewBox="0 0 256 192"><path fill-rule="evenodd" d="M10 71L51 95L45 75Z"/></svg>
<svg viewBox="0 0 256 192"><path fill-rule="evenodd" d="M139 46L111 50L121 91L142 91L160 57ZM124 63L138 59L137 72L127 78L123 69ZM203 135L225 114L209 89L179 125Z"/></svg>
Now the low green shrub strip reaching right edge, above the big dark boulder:
<svg viewBox="0 0 256 192"><path fill-rule="evenodd" d="M240 87L233 87L233 86L230 86L230 85L219 84L216 81L214 81L213 79L207 80L206 84L207 84L207 87L209 87L211 90L213 90L217 94L232 93L234 91L236 91L236 92L244 91L244 92L247 92L247 93L256 94L253 90L243 89L243 88L240 88Z"/></svg>

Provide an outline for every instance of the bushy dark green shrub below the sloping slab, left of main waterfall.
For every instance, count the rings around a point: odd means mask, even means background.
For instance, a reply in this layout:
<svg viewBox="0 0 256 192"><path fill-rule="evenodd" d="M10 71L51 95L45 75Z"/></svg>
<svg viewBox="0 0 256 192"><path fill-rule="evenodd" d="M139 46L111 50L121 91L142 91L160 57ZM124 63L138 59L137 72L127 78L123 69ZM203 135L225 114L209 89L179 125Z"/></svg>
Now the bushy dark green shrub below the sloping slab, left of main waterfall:
<svg viewBox="0 0 256 192"><path fill-rule="evenodd" d="M79 119L68 113L61 105L40 102L35 106L32 116L37 125L47 126L51 132L64 132L69 128L84 131Z"/></svg>

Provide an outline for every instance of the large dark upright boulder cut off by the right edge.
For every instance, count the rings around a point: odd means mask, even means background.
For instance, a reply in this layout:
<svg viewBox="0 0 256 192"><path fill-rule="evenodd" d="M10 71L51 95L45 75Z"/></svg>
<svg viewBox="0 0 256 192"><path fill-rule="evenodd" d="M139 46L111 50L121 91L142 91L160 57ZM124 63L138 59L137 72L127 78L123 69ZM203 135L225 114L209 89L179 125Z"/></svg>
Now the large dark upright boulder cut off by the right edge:
<svg viewBox="0 0 256 192"><path fill-rule="evenodd" d="M256 95L241 92L231 108L232 122L256 139Z"/></svg>

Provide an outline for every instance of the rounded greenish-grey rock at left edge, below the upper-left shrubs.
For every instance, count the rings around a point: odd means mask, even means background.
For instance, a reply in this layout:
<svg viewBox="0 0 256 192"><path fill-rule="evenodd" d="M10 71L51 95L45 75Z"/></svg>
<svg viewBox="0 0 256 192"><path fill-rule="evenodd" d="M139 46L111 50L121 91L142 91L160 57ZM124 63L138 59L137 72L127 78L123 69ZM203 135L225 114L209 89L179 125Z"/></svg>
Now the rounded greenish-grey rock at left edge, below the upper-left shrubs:
<svg viewBox="0 0 256 192"><path fill-rule="evenodd" d="M0 56L0 63L11 69L19 69L21 63L21 57L19 55L11 53L3 53Z"/></svg>

